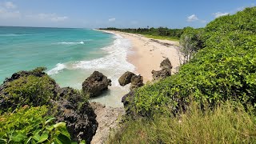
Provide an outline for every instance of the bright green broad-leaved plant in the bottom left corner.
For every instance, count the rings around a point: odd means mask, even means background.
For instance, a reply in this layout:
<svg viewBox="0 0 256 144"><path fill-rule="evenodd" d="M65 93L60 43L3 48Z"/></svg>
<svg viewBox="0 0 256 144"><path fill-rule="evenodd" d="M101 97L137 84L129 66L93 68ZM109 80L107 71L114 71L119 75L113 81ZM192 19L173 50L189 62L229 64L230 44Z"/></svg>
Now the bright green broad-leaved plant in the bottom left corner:
<svg viewBox="0 0 256 144"><path fill-rule="evenodd" d="M0 116L0 143L71 143L66 123L54 124L46 106L21 108Z"/></svg>

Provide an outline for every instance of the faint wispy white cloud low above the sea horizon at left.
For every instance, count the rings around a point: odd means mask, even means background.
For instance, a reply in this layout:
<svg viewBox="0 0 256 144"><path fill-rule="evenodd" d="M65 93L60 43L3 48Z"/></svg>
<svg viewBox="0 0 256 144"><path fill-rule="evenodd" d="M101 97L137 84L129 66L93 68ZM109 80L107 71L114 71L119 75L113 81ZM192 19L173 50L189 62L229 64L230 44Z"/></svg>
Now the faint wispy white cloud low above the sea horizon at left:
<svg viewBox="0 0 256 144"><path fill-rule="evenodd" d="M45 21L45 22L62 22L68 19L66 16L58 16L57 14L30 14L26 15L26 18L34 19L37 21Z"/></svg>

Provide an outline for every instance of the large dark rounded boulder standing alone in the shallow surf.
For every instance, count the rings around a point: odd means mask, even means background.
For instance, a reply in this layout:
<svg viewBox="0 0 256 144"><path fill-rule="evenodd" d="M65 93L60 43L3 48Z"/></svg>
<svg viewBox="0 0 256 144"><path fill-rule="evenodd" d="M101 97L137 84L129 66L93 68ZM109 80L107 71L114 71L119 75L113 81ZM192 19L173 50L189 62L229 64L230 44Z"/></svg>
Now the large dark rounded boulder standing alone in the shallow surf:
<svg viewBox="0 0 256 144"><path fill-rule="evenodd" d="M96 97L111 86L111 80L98 71L94 71L86 81L82 82L82 91L90 97Z"/></svg>

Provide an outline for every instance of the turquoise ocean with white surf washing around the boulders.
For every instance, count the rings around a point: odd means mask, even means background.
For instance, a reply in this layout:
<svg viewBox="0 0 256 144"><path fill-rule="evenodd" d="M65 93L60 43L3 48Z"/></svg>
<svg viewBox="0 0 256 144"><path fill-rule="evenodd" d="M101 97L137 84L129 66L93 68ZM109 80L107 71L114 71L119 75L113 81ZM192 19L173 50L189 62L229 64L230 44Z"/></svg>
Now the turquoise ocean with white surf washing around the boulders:
<svg viewBox="0 0 256 144"><path fill-rule="evenodd" d="M45 66L59 86L82 89L82 82L98 70L112 80L110 90L91 101L122 106L129 87L118 78L134 66L127 62L129 40L98 30L0 26L0 82L19 70Z"/></svg>

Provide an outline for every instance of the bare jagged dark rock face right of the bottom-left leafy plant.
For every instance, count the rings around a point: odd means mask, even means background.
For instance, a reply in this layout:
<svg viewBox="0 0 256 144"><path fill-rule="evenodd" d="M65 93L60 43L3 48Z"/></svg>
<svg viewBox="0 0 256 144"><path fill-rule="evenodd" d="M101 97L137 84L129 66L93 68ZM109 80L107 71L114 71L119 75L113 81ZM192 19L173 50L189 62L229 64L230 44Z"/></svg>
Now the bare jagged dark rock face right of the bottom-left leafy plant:
<svg viewBox="0 0 256 144"><path fill-rule="evenodd" d="M75 142L85 140L90 143L98 127L96 114L89 102L81 102L80 106L74 106L65 98L58 101L51 101L57 122L66 122L66 128L70 133L71 139ZM54 111L53 110L53 111Z"/></svg>

